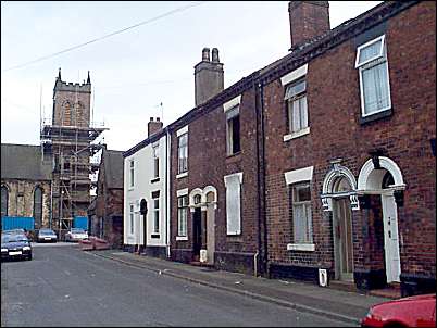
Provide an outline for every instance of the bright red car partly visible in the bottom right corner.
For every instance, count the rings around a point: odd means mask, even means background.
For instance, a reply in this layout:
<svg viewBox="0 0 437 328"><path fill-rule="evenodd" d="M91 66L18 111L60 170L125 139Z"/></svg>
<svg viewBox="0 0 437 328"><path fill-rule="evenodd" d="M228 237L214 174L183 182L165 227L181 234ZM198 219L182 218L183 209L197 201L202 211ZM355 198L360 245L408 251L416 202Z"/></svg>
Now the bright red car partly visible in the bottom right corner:
<svg viewBox="0 0 437 328"><path fill-rule="evenodd" d="M436 327L436 294L373 305L361 320L361 327Z"/></svg>

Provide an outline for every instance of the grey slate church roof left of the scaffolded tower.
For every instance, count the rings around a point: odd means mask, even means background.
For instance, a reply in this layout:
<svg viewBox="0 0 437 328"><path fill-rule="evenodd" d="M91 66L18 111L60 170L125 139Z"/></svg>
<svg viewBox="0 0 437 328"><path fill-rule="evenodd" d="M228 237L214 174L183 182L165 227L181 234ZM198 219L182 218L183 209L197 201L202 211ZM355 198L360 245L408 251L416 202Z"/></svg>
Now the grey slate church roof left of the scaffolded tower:
<svg viewBox="0 0 437 328"><path fill-rule="evenodd" d="M40 146L1 144L1 178L51 180L52 161L41 161Z"/></svg>

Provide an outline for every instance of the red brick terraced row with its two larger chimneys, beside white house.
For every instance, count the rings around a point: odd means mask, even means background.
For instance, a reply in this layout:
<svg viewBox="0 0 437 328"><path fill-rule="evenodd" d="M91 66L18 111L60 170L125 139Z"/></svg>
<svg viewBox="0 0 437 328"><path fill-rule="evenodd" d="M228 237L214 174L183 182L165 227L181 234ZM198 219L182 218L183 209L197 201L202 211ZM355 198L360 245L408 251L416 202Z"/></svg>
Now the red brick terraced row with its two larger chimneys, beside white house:
<svg viewBox="0 0 437 328"><path fill-rule="evenodd" d="M435 2L334 29L328 8L291 1L290 53L226 89L203 49L196 108L153 137L170 150L167 257L434 292Z"/></svg>

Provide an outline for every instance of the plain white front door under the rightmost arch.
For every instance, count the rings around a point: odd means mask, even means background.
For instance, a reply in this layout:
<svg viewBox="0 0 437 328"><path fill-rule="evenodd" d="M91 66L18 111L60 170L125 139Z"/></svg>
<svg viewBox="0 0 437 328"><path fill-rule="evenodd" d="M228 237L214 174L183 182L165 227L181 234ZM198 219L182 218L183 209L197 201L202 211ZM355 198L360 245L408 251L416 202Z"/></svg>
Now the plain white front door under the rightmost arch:
<svg viewBox="0 0 437 328"><path fill-rule="evenodd" d="M382 195L387 282L400 282L398 207L392 195Z"/></svg>

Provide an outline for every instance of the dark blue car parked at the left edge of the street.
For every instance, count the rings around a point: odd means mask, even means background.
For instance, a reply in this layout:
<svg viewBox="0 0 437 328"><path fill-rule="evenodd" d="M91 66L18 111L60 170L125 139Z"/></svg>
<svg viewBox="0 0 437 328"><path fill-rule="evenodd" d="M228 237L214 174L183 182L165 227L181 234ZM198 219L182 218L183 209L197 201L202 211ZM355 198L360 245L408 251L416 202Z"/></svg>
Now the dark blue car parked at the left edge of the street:
<svg viewBox="0 0 437 328"><path fill-rule="evenodd" d="M32 245L25 235L1 234L1 260L32 260Z"/></svg>

